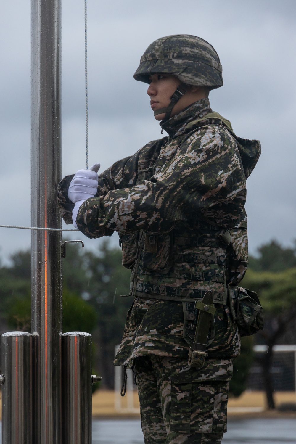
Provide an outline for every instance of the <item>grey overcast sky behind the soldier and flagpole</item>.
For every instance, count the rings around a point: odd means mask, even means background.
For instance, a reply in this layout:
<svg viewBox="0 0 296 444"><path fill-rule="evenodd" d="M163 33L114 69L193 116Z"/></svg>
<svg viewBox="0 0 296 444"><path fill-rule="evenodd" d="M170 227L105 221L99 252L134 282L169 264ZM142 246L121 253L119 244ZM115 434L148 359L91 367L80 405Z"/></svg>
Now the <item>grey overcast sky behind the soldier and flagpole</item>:
<svg viewBox="0 0 296 444"><path fill-rule="evenodd" d="M85 167L84 1L62 1L63 175ZM259 139L248 179L249 251L296 237L296 1L88 0L89 159L102 171L160 136L133 79L159 37L200 36L217 50L224 86L214 111L235 133ZM0 224L30 225L30 1L0 4ZM78 234L76 238L83 235ZM118 235L112 236L113 243ZM111 239L112 239L111 238ZM97 246L99 240L87 242ZM0 229L0 256L30 245L30 232Z"/></svg>

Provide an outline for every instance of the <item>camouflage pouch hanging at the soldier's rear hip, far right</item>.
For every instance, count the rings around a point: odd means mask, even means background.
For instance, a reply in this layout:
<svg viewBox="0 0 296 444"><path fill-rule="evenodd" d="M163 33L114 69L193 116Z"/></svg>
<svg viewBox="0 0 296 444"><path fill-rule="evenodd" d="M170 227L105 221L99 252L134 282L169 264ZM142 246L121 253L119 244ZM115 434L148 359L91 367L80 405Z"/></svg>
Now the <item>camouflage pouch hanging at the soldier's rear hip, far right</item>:
<svg viewBox="0 0 296 444"><path fill-rule="evenodd" d="M230 311L241 336L251 336L263 330L263 308L254 291L242 287L227 289Z"/></svg>

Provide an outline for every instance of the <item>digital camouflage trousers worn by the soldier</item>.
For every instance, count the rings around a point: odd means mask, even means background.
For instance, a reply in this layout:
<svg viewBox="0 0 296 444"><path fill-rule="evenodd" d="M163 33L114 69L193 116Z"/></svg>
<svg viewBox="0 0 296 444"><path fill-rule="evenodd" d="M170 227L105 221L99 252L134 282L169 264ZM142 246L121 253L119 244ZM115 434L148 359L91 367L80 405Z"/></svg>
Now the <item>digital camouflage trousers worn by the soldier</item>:
<svg viewBox="0 0 296 444"><path fill-rule="evenodd" d="M149 355L134 364L145 444L221 443L229 381L190 381L187 362L176 358ZM178 377L180 369L186 376Z"/></svg>

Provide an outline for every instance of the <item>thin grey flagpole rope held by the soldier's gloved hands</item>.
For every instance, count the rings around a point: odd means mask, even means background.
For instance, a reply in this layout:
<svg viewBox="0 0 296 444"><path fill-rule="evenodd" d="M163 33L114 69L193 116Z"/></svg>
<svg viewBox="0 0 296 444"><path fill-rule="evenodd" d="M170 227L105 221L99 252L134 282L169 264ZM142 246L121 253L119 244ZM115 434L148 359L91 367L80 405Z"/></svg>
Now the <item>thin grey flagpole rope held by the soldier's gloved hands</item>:
<svg viewBox="0 0 296 444"><path fill-rule="evenodd" d="M85 135L86 135L86 166L88 170L88 104L87 104L87 0L84 0L84 51L85 51ZM42 228L37 226L0 225L0 228L20 228L21 230L42 231L79 231L67 228Z"/></svg>

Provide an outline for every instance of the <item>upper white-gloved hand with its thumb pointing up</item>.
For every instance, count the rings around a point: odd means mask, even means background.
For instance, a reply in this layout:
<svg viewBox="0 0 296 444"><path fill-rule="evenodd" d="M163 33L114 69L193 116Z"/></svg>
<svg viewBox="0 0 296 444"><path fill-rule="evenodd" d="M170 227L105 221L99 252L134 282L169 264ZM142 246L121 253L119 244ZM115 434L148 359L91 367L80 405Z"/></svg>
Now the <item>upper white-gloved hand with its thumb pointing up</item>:
<svg viewBox="0 0 296 444"><path fill-rule="evenodd" d="M76 203L81 200L86 200L97 194L98 189L98 171L99 163L91 166L89 170L79 170L71 180L68 198L71 202Z"/></svg>

